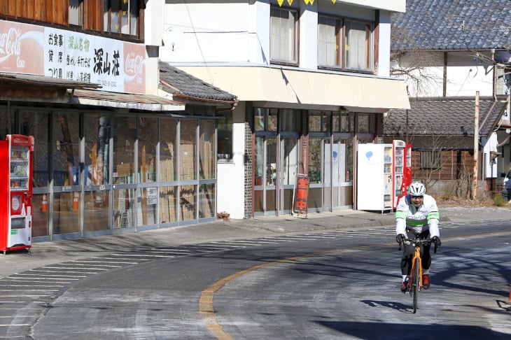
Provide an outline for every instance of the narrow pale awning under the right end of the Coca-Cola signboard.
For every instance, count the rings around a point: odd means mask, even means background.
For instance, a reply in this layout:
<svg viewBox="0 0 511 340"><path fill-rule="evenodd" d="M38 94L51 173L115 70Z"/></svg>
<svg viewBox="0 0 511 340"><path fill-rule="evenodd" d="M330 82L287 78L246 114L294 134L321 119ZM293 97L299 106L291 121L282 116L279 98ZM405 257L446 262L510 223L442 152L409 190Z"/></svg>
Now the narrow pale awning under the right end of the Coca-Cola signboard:
<svg viewBox="0 0 511 340"><path fill-rule="evenodd" d="M144 111L184 111L185 104L153 94L73 90L69 103Z"/></svg>

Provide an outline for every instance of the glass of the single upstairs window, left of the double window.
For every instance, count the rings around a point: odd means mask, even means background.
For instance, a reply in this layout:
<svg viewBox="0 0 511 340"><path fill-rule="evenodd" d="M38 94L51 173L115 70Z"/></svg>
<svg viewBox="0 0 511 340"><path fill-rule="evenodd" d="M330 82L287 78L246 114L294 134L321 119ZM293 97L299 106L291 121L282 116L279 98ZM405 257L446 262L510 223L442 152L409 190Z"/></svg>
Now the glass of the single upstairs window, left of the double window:
<svg viewBox="0 0 511 340"><path fill-rule="evenodd" d="M272 6L270 13L270 48L272 62L298 62L297 10Z"/></svg>

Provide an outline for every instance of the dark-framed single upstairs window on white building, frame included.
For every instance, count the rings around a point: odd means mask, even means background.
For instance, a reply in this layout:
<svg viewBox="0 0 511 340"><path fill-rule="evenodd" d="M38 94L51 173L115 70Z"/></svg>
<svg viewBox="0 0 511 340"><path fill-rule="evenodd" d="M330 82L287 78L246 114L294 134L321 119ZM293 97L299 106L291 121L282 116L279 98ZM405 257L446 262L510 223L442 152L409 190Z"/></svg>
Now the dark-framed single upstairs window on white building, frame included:
<svg viewBox="0 0 511 340"><path fill-rule="evenodd" d="M280 55L280 52L278 55L276 55L276 52L274 52L274 49L272 48L272 45L285 45L281 43L283 41L283 38L286 38L288 40L288 36L283 37L283 34L281 32L275 33L274 28L274 17L276 17L274 14L275 11L278 11L279 13L287 12L287 13L294 13L294 19L293 19L293 36L291 37L292 41L288 42L292 43L292 46L290 46L290 50L293 50L291 53L292 55L287 56L287 59L283 59L283 56ZM300 25L298 24L298 20L300 18L300 10L298 8L290 8L290 7L279 7L279 6L270 6L269 9L269 62L271 64L283 64L283 65L291 65L291 66L297 66L299 62L299 42L300 42ZM278 27L280 31L285 29L286 27ZM272 43L275 38L279 38L278 42L276 44ZM289 52L289 50L288 50Z"/></svg>

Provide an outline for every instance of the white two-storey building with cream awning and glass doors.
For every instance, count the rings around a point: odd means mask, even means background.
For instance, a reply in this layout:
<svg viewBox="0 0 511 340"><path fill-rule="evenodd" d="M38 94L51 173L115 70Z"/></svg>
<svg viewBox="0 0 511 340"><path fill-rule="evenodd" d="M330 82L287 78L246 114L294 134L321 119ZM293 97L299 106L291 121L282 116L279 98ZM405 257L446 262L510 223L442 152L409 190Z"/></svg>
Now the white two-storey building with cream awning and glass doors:
<svg viewBox="0 0 511 340"><path fill-rule="evenodd" d="M380 143L384 113L409 108L389 76L390 15L405 5L166 3L160 58L239 99L218 126L217 211L293 213L302 175L308 212L356 208L358 144Z"/></svg>

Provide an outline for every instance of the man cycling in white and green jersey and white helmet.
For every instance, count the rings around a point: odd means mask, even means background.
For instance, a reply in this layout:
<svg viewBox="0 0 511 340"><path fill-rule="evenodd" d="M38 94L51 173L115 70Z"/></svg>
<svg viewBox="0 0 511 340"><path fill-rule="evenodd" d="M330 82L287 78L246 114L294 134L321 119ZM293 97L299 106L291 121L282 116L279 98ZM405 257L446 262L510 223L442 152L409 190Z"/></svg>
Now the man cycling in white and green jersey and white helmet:
<svg viewBox="0 0 511 340"><path fill-rule="evenodd" d="M440 215L438 213L437 202L433 197L426 194L426 187L420 182L414 182L409 186L408 194L401 197L398 206L395 209L395 241L402 243L406 239L414 239L419 235L420 239L431 237L431 241L440 246L440 230L438 222ZM406 235L406 236L405 236ZM430 245L421 246L422 258L422 283L424 289L428 289L429 268L431 266L431 255L429 253ZM412 267L412 258L414 257L414 246L405 244L402 252L401 291L407 291L409 271Z"/></svg>

